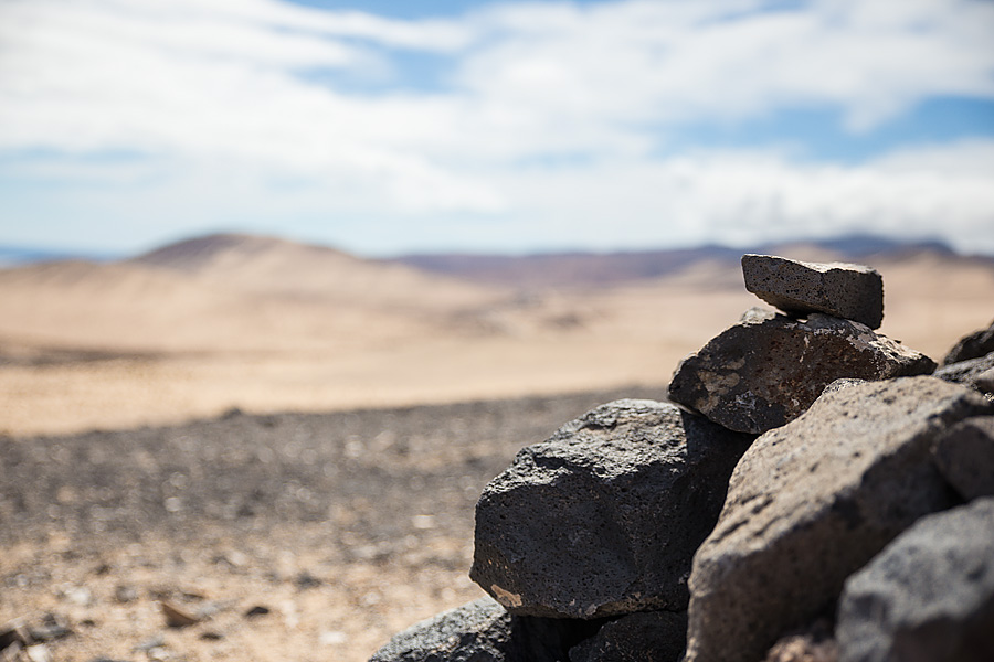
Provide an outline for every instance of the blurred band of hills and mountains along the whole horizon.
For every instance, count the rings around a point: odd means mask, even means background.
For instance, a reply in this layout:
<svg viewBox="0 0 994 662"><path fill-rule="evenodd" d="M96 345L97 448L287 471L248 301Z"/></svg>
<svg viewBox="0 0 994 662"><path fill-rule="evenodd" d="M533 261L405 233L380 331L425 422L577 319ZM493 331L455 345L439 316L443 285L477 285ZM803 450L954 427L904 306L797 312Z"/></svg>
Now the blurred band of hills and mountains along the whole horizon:
<svg viewBox="0 0 994 662"><path fill-rule="evenodd" d="M2 248L2 247L0 247ZM22 249L22 255L28 255ZM543 252L526 255L415 253L367 258L336 247L275 236L213 233L171 242L118 260L89 260L171 271L236 289L286 296L322 296L342 289L388 295L401 281L419 281L431 291L443 287L486 287L517 290L610 288L689 274L704 284L728 280L744 253L773 254L810 261L859 261L875 266L916 255L956 259L994 268L992 256L962 256L940 241L901 241L869 234L765 243L748 247L705 244L684 248L614 252ZM60 264L78 258L45 259L8 265ZM709 276L710 275L710 276ZM405 285L406 286L406 285ZM391 297L387 297L391 299ZM402 301L395 301L398 305Z"/></svg>

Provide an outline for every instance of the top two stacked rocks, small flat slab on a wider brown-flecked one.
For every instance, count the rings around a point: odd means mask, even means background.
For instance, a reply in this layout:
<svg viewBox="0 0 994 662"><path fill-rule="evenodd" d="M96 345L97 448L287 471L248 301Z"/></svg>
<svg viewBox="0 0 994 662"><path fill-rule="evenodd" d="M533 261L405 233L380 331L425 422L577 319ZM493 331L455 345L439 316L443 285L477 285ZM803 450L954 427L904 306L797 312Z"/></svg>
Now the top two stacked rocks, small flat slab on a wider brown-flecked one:
<svg viewBox="0 0 994 662"><path fill-rule="evenodd" d="M835 380L935 370L873 330L884 319L884 285L873 269L747 255L742 270L747 288L783 314L753 309L685 359L669 384L674 402L759 435L797 418Z"/></svg>

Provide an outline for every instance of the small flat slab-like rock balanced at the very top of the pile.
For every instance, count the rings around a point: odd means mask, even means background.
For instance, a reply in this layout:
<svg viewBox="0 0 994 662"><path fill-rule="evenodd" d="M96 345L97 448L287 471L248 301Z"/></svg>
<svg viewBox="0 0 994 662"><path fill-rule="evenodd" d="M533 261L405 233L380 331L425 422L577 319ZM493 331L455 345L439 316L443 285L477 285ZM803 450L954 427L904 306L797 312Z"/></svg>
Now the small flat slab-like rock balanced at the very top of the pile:
<svg viewBox="0 0 994 662"><path fill-rule="evenodd" d="M742 275L747 290L790 314L824 312L870 329L884 321L884 279L869 267L743 255Z"/></svg>

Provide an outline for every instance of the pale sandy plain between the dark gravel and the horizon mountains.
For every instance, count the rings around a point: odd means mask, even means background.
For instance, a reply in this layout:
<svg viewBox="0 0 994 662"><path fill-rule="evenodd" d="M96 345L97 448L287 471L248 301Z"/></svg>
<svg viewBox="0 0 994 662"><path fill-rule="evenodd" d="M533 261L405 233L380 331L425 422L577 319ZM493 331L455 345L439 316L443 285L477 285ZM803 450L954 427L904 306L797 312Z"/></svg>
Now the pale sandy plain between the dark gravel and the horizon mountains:
<svg viewBox="0 0 994 662"><path fill-rule="evenodd" d="M994 317L990 261L873 266L882 332L927 354ZM0 270L0 434L664 385L757 303L728 265L526 291L257 238L157 263Z"/></svg>

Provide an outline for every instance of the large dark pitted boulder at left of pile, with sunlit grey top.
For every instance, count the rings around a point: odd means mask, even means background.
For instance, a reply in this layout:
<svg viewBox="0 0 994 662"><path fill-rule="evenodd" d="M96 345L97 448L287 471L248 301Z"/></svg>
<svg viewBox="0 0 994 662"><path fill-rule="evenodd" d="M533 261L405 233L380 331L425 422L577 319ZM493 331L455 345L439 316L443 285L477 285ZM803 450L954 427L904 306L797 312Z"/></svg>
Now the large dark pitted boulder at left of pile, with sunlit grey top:
<svg viewBox="0 0 994 662"><path fill-rule="evenodd" d="M670 404L596 407L486 487L469 576L514 613L684 610L690 558L750 441Z"/></svg>

